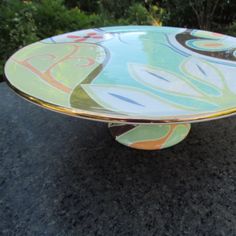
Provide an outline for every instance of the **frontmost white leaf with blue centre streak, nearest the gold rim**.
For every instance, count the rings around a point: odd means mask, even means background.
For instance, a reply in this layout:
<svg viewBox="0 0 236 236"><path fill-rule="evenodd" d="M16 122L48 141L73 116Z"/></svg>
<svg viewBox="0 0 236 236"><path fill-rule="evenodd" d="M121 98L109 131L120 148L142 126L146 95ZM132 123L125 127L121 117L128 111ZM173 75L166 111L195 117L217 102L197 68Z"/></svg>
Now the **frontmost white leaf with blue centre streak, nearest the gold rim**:
<svg viewBox="0 0 236 236"><path fill-rule="evenodd" d="M82 84L81 88L99 106L116 113L145 117L189 113L188 110L177 108L162 101L158 96L138 88L95 84Z"/></svg>

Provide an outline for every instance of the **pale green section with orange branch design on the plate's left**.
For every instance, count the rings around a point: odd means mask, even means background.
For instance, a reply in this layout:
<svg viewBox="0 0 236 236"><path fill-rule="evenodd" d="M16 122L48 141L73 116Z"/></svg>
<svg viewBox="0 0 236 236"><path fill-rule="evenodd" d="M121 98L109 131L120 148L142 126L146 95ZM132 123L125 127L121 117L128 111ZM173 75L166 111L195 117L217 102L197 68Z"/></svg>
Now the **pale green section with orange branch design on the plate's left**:
<svg viewBox="0 0 236 236"><path fill-rule="evenodd" d="M100 65L105 56L102 47L86 43L35 43L16 52L7 62L5 72L10 83L22 92L70 107L70 92L50 84L47 79L50 77L72 90Z"/></svg>

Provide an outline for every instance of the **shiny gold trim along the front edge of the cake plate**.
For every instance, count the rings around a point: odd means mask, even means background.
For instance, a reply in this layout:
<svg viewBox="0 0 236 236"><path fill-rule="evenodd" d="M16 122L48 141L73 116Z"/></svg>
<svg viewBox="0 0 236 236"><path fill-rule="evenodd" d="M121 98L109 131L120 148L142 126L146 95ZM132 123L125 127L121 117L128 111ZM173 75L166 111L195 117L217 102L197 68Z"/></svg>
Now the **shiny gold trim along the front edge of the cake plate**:
<svg viewBox="0 0 236 236"><path fill-rule="evenodd" d="M198 115L190 115L190 116L182 116L182 117L163 117L162 119L151 119L151 118L131 118L131 117L122 117L119 115L113 114L112 116L108 116L104 113L98 113L98 112L91 112L91 111L85 111L85 110L79 110L74 108L66 108L59 105L55 105L49 102L45 102L41 99L38 99L36 97L30 96L21 90L14 87L10 81L7 79L6 75L6 82L10 88L12 88L18 95L25 98L26 100L39 105L40 107L46 108L48 110L52 110L58 113L62 113L65 115L73 116L73 117L79 117L89 120L96 120L101 122L113 122L113 123L127 123L127 124L175 124L175 123L195 123L195 122L203 122L203 121L209 121L209 120L215 120L218 118L225 118L232 116L236 113L236 107L223 110L220 112L213 112L213 113L207 113L207 114L198 114Z"/></svg>

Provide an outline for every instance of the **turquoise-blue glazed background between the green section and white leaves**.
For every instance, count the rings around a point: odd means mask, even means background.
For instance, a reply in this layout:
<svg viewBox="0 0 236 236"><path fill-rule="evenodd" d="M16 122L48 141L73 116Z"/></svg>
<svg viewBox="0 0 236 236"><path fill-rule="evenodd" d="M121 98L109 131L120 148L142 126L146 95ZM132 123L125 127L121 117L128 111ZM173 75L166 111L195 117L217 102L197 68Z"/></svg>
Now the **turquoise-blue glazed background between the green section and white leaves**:
<svg viewBox="0 0 236 236"><path fill-rule="evenodd" d="M179 66L186 57L172 50L166 40L166 33L176 34L179 30L176 30L176 28L164 28L166 30L165 33L165 30L163 32L160 28L144 27L142 30L140 30L140 27L132 27L132 30L130 30L130 27L106 28L106 32L113 33L113 38L101 44L110 52L110 58L106 67L93 81L93 84L126 85L144 89L171 104L181 104L180 107L193 110L217 109L218 106L210 102L153 89L131 77L128 71L128 63L150 65L178 74L180 77L185 77ZM120 33L122 29L125 29L126 32ZM200 83L198 83L198 86L200 86ZM217 91L207 87L207 85L202 85L202 87L206 92L217 93Z"/></svg>

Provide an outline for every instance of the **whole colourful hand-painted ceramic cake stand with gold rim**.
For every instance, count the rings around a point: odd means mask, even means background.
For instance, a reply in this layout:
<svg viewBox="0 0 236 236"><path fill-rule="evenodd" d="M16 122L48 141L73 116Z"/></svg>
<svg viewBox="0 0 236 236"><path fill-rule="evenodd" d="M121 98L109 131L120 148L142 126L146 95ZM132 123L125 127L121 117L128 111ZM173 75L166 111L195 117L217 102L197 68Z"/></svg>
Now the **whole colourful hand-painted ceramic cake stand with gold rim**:
<svg viewBox="0 0 236 236"><path fill-rule="evenodd" d="M190 123L236 112L236 39L154 26L82 30L19 50L5 76L44 108L108 122L129 147L162 149Z"/></svg>

